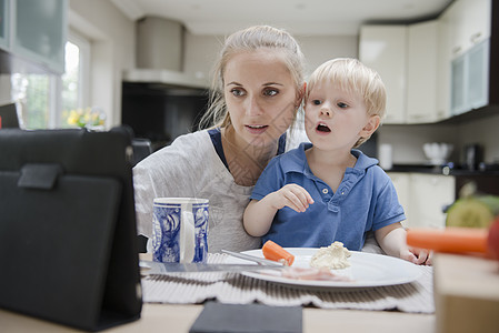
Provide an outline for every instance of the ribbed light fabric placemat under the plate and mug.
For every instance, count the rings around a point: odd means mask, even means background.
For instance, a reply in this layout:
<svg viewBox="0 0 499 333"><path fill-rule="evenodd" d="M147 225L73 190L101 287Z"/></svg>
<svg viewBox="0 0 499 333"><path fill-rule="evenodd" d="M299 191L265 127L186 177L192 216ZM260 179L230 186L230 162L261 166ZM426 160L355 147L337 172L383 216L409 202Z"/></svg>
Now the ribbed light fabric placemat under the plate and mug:
<svg viewBox="0 0 499 333"><path fill-rule="evenodd" d="M210 254L208 262L222 263L226 259L226 254ZM199 304L217 300L230 304L258 302L278 306L435 313L433 270L431 266L419 269L422 274L412 283L356 290L308 290L238 273L191 273L144 276L142 292L146 303Z"/></svg>

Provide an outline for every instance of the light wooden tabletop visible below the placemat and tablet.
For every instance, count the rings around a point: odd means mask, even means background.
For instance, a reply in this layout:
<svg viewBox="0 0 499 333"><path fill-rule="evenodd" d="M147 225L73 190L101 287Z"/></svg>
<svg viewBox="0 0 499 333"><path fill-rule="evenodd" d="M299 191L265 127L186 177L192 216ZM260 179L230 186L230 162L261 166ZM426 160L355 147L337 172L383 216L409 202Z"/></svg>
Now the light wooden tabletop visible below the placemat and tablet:
<svg viewBox="0 0 499 333"><path fill-rule="evenodd" d="M189 332L202 305L143 304L139 321L116 326L104 332ZM397 311L357 311L303 309L303 332L361 332L375 329L383 333L432 333L433 314L413 314ZM80 332L43 320L0 310L2 333L18 332Z"/></svg>

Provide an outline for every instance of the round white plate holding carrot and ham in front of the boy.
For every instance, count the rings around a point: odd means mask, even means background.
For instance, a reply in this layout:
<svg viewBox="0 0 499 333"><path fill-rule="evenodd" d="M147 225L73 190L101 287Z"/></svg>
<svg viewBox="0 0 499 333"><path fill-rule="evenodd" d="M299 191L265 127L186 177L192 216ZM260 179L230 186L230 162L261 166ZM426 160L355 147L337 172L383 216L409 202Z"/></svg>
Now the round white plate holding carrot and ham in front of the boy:
<svg viewBox="0 0 499 333"><path fill-rule="evenodd" d="M310 268L310 260L318 249L286 248L295 255L293 266ZM244 251L242 253L263 258L261 250ZM242 272L243 275L306 287L372 287L382 285L396 285L416 281L421 275L418 265L408 261L382 254L373 254L350 251L348 259L350 266L342 270L332 270L335 274L348 276L350 281L319 281L319 280L295 280L282 276L273 276L259 272ZM229 256L226 263L248 263L248 261Z"/></svg>

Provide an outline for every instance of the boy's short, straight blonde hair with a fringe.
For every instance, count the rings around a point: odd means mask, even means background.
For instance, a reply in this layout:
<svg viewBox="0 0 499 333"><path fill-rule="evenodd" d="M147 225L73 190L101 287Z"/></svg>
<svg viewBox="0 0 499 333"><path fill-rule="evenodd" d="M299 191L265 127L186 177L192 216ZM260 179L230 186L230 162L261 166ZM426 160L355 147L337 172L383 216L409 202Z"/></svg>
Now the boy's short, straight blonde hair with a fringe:
<svg viewBox="0 0 499 333"><path fill-rule="evenodd" d="M330 81L340 89L355 92L362 97L368 115L386 115L387 91L381 77L375 70L352 58L338 58L319 65L310 75L307 84L306 101L319 82ZM360 138L353 148L359 147L369 138Z"/></svg>

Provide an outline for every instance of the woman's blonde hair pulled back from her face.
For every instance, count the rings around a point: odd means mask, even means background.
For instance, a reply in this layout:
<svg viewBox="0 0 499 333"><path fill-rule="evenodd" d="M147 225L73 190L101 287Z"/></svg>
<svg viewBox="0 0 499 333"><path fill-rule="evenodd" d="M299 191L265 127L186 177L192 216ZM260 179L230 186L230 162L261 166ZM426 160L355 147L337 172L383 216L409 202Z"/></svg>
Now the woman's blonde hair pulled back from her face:
<svg viewBox="0 0 499 333"><path fill-rule="evenodd" d="M209 107L201 118L199 128L227 127L231 123L223 95L223 73L227 62L241 52L260 49L276 50L285 54L287 65L297 87L297 93L303 83L305 57L295 38L282 29L269 26L255 26L237 31L226 39L216 62L209 92Z"/></svg>

